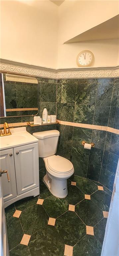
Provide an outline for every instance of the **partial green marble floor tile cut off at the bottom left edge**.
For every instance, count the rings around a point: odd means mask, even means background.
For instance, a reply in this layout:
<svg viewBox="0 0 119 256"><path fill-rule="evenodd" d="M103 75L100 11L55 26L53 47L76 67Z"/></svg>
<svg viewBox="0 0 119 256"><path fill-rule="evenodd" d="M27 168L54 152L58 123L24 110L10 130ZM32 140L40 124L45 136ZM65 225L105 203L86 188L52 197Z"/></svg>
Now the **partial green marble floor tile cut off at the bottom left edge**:
<svg viewBox="0 0 119 256"><path fill-rule="evenodd" d="M28 246L19 244L10 251L10 256L31 256Z"/></svg>

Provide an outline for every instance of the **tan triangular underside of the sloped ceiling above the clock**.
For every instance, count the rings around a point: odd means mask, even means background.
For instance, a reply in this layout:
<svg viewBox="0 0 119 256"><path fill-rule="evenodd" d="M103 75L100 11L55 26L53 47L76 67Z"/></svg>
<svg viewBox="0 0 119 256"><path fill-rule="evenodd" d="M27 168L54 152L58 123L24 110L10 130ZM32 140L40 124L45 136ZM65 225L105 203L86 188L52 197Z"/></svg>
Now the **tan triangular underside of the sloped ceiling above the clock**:
<svg viewBox="0 0 119 256"><path fill-rule="evenodd" d="M119 38L119 15L69 39L65 43Z"/></svg>

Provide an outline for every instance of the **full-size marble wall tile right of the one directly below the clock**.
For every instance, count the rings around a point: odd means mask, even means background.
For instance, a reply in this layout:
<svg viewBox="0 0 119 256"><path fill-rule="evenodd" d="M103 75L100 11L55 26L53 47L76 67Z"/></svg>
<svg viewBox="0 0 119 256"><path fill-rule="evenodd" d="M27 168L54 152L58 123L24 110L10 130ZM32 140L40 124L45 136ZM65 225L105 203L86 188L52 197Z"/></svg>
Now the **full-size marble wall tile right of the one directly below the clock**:
<svg viewBox="0 0 119 256"><path fill-rule="evenodd" d="M98 84L96 105L110 106L113 92L113 83Z"/></svg>

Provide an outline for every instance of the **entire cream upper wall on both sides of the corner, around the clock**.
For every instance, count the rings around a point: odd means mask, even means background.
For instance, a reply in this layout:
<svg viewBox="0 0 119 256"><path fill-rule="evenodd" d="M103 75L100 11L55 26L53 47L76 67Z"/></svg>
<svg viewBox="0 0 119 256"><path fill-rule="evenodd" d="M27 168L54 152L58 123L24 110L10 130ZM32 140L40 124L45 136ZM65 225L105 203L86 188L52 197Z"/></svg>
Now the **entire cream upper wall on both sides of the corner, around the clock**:
<svg viewBox="0 0 119 256"><path fill-rule="evenodd" d="M119 1L1 1L1 58L51 68L78 68L91 50L93 67L119 65L117 39L63 44L118 14Z"/></svg>

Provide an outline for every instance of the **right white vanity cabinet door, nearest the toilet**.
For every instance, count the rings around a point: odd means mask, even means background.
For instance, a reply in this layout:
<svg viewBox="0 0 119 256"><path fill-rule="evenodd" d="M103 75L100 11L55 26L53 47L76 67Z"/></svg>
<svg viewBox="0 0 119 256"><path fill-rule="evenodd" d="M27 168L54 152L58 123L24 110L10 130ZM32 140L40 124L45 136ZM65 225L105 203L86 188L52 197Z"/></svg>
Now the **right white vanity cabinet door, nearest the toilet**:
<svg viewBox="0 0 119 256"><path fill-rule="evenodd" d="M39 186L38 143L14 148L17 194Z"/></svg>

